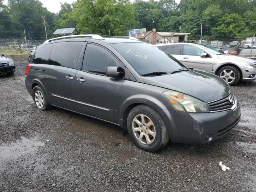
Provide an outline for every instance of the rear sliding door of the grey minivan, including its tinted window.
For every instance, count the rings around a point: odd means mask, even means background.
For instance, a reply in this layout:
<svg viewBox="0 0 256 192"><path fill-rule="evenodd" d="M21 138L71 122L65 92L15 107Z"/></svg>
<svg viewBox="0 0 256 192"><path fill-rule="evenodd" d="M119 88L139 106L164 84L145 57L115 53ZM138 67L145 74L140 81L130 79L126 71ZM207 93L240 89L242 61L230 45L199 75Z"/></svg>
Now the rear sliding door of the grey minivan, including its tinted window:
<svg viewBox="0 0 256 192"><path fill-rule="evenodd" d="M53 105L76 111L76 71L85 42L54 43L45 70L45 85Z"/></svg>

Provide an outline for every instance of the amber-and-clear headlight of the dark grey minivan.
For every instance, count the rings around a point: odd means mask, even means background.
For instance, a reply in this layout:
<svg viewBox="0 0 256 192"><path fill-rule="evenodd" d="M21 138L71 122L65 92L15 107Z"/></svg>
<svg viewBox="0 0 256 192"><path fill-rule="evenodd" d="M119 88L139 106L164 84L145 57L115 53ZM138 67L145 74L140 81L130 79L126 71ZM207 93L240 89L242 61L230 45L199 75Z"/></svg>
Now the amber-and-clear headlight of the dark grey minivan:
<svg viewBox="0 0 256 192"><path fill-rule="evenodd" d="M165 91L163 94L176 111L187 111L190 113L209 112L205 102L192 96L172 90Z"/></svg>

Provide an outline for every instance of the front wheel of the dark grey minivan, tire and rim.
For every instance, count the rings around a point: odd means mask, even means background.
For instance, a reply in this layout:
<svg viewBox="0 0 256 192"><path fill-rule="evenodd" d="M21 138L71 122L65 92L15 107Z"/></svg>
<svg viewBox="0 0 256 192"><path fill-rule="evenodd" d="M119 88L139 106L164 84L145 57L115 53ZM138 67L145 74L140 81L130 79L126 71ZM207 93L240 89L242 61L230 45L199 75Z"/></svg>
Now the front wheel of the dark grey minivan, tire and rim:
<svg viewBox="0 0 256 192"><path fill-rule="evenodd" d="M164 120L150 106L134 107L127 118L127 129L134 144L148 152L160 150L169 141Z"/></svg>

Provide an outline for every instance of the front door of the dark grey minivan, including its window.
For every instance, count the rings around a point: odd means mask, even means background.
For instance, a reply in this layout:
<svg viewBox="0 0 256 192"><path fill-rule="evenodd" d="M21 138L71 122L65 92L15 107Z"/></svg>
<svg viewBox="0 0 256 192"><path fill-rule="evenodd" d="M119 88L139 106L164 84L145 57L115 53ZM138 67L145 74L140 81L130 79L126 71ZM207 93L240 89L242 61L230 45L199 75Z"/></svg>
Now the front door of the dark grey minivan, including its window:
<svg viewBox="0 0 256 192"><path fill-rule="evenodd" d="M106 76L108 66L124 65L105 47L88 43L81 70L76 73L79 112L119 124L123 78Z"/></svg>

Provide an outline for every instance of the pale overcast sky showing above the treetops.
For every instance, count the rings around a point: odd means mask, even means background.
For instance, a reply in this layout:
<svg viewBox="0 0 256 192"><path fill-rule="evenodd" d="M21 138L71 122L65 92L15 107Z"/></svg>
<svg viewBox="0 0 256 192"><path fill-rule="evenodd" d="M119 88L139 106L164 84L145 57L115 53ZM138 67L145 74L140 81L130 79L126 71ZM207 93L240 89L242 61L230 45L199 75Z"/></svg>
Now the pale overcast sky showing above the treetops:
<svg viewBox="0 0 256 192"><path fill-rule="evenodd" d="M60 3L73 3L76 0L40 0L43 6L47 8L50 12L58 13L60 10ZM133 0L131 0L133 1ZM176 3L180 3L180 0L175 0ZM4 4L7 4L8 0L4 0Z"/></svg>

